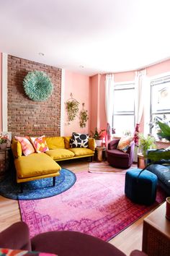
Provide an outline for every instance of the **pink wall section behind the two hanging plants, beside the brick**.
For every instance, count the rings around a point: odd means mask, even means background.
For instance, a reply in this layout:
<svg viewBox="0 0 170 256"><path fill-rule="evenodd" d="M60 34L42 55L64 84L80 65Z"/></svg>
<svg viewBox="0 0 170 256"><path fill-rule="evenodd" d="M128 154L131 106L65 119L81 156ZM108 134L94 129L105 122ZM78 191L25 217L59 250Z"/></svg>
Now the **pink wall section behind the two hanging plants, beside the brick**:
<svg viewBox="0 0 170 256"><path fill-rule="evenodd" d="M79 112L82 109L82 103L85 103L84 109L88 111L90 120L90 103L89 103L89 77L82 74L77 74L66 70L65 73L65 93L64 102L71 98L71 93L76 101L79 101ZM76 119L68 124L67 114L65 108L65 120L64 120L64 135L71 136L72 132L89 133L89 120L86 122L86 127L81 128L79 126L79 113Z"/></svg>

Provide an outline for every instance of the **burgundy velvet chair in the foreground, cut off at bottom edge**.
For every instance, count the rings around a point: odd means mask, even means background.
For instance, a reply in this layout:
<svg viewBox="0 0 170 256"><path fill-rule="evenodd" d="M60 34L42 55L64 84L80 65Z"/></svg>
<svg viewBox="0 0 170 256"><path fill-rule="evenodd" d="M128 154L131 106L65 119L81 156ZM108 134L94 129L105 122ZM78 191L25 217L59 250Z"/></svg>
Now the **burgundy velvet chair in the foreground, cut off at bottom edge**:
<svg viewBox="0 0 170 256"><path fill-rule="evenodd" d="M34 254L46 252L58 256L125 256L125 253L114 245L76 231L49 231L30 239L28 226L22 221L0 232L0 247L34 251ZM26 255L31 254L28 252ZM134 250L130 256L147 255Z"/></svg>

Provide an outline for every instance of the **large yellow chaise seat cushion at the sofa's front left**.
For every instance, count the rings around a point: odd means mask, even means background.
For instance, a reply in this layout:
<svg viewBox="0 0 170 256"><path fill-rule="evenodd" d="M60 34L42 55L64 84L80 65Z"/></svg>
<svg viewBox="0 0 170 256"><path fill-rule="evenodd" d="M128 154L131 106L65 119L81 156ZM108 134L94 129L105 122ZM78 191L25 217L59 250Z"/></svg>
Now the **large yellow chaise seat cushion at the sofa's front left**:
<svg viewBox="0 0 170 256"><path fill-rule="evenodd" d="M53 174L61 170L61 166L45 153L22 155L14 160L14 164L19 178Z"/></svg>

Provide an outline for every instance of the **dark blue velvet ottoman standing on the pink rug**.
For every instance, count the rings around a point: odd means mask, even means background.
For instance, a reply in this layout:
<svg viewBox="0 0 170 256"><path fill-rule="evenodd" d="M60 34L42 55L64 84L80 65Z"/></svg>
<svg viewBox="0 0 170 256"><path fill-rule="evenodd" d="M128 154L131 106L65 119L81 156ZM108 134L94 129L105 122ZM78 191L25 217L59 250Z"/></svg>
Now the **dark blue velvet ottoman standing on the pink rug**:
<svg viewBox="0 0 170 256"><path fill-rule="evenodd" d="M151 171L134 168L127 171L125 176L125 195L133 202L151 205L156 200L158 178Z"/></svg>

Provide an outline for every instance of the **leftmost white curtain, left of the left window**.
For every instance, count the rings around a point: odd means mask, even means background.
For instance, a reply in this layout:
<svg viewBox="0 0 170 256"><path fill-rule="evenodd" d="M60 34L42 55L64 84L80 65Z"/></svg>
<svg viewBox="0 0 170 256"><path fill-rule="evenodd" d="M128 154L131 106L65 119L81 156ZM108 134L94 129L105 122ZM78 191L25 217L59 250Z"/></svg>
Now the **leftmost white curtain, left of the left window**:
<svg viewBox="0 0 170 256"><path fill-rule="evenodd" d="M114 75L107 74L105 85L105 111L107 117L107 140L111 137L112 114L113 114L113 93L114 93Z"/></svg>

